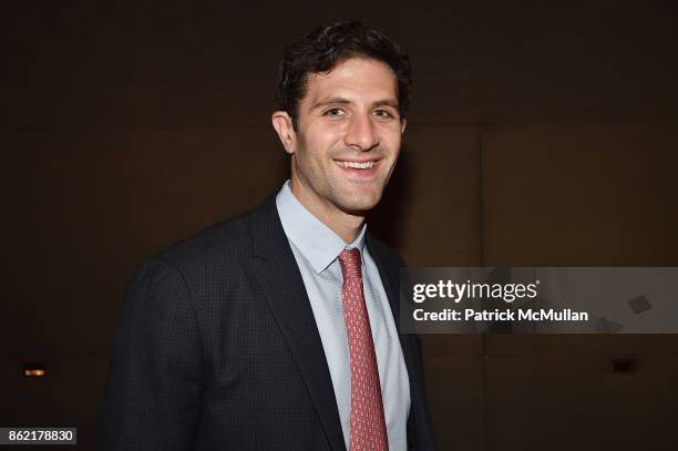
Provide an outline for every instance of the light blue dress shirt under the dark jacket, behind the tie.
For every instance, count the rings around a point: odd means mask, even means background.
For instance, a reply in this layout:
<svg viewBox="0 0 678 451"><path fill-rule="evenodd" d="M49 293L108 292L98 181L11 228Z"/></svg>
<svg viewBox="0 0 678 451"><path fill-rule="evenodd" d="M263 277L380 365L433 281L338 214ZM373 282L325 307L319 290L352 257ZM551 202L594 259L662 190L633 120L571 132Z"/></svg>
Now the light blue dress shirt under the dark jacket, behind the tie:
<svg viewBox="0 0 678 451"><path fill-rule="evenodd" d="M360 249L364 300L379 368L389 449L404 451L408 443L410 382L389 299L377 264L364 246L367 226L362 227L353 243L346 244L339 235L301 205L292 194L289 181L278 193L276 205L282 228L301 271L320 332L347 449L350 443L351 366L343 322L342 276L338 257L346 248Z"/></svg>

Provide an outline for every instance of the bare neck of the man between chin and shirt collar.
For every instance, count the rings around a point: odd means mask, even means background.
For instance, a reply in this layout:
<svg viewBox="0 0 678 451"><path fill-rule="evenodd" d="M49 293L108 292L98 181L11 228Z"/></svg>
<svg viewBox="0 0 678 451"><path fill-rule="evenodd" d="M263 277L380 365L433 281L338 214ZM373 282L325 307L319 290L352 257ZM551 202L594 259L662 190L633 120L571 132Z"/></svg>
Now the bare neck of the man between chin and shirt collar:
<svg viewBox="0 0 678 451"><path fill-rule="evenodd" d="M345 243L353 243L356 240L364 224L364 215L346 213L333 204L319 202L317 198L307 195L305 189L296 187L295 183L290 183L290 188L297 201L320 219L322 224L339 235Z"/></svg>

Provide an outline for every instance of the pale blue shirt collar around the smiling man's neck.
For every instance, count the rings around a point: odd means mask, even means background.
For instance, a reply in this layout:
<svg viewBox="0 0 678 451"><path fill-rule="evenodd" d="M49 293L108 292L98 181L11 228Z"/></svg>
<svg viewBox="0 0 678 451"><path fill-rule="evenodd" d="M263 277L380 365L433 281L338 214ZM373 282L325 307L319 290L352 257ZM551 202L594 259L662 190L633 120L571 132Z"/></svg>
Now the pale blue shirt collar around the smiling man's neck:
<svg viewBox="0 0 678 451"><path fill-rule="evenodd" d="M352 243L345 243L335 230L301 205L292 194L289 181L278 192L276 206L287 238L297 246L316 273L322 273L346 248L357 247L362 255L367 224L362 225Z"/></svg>

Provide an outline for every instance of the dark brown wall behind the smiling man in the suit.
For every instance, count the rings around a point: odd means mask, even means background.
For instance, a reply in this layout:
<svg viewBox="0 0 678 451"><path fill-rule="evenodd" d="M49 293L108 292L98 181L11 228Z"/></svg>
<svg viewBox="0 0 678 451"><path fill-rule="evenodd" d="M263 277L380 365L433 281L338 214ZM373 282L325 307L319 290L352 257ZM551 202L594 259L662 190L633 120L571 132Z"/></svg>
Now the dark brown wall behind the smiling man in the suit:
<svg viewBox="0 0 678 451"><path fill-rule="evenodd" d="M91 449L127 278L281 185L277 61L339 18L412 55L370 218L411 266L678 266L676 8L496 3L4 6L0 426ZM441 449L675 449L677 337L427 336Z"/></svg>

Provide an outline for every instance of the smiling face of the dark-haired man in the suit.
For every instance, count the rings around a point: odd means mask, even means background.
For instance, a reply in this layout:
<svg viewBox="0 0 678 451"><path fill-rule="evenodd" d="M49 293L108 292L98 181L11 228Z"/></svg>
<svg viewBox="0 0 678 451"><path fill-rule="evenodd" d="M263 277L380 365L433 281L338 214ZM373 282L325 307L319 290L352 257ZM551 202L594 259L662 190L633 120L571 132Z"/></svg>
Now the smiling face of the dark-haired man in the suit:
<svg viewBox="0 0 678 451"><path fill-rule="evenodd" d="M298 111L298 130L286 143L295 195L311 212L330 215L363 215L374 207L404 131L391 69L353 58L310 74Z"/></svg>

